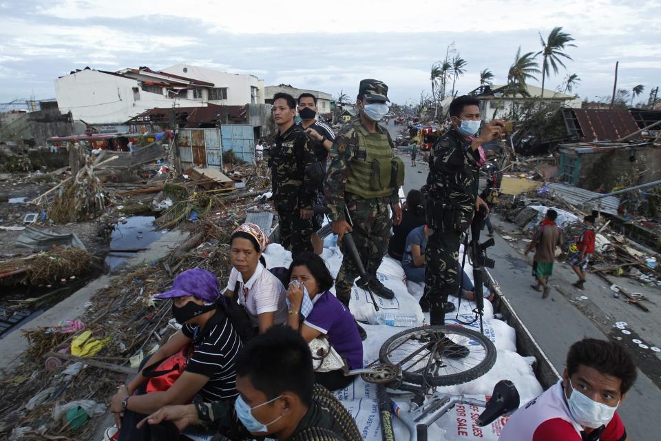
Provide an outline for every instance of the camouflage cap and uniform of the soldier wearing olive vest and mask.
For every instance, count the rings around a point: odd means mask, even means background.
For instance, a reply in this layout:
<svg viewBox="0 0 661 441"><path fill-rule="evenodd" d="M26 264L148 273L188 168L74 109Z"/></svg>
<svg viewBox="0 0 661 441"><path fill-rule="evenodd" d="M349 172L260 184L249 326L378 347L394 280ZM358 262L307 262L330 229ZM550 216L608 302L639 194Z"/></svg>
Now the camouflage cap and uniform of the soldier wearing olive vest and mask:
<svg viewBox="0 0 661 441"><path fill-rule="evenodd" d="M366 94L366 99L373 99L373 96L382 96L384 101L387 99L385 93L388 91L388 87L386 85L380 81L369 80L368 87L372 89L365 90L363 83L366 81L368 80L361 81L361 93ZM370 94L370 90L373 94ZM375 276L381 260L388 251L390 227L392 226L388 205L399 203L399 196L398 187L390 187L390 182L380 190L381 196L377 197L359 195L357 193L361 191L355 189L357 187L351 187L350 183L355 183L357 176L364 176L358 170L360 167L373 167L366 154L366 143L371 142L366 141L368 136L375 136L376 138L373 139L378 138L372 145L377 147L379 153L383 155L382 159L388 158L387 167L390 169L392 158L395 156L392 155L394 144L388 130L377 123L377 132L370 134L361 123L360 117L356 116L342 127L330 149L330 165L326 173L324 195L331 220L348 221L344 208L348 209L350 220L353 223L353 238L365 271L367 274ZM381 172L384 176L387 173L386 170L381 170ZM390 172L392 173L392 170ZM387 174L390 176L390 173ZM364 181L366 181L364 177L361 177L360 184L366 188L364 194L369 194L371 183ZM340 249L344 258L335 279L335 293L337 298L348 306L351 288L359 276L359 272L344 244L340 243Z"/></svg>

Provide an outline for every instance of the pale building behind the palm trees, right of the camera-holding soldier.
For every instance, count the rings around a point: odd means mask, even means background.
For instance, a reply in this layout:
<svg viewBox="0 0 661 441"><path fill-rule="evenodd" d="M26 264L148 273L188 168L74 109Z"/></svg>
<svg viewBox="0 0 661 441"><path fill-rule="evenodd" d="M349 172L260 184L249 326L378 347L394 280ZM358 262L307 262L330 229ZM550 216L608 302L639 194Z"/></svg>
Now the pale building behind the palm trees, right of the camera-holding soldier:
<svg viewBox="0 0 661 441"><path fill-rule="evenodd" d="M522 103L527 100L539 100L542 88L538 88L534 85L526 85L527 92L530 96L521 96L516 94L514 96L503 96L503 90L505 86L503 85L492 85L485 86L483 88L477 88L470 92L470 95L475 96L480 100L480 111L483 116L484 121L491 121L494 119L494 110L496 110L496 119L503 118L507 114L510 114L512 110L512 105L514 103ZM560 103L563 107L567 108L580 108L580 98L574 95L563 94L556 92L554 90L544 90L544 96L542 100L545 103ZM449 105L449 103L448 103Z"/></svg>

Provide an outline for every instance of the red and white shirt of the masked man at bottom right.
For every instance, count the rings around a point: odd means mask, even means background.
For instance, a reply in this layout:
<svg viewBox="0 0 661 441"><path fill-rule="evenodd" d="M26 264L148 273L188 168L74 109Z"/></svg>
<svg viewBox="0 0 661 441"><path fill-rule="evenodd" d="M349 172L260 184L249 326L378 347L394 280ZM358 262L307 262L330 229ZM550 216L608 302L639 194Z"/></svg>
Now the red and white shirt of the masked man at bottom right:
<svg viewBox="0 0 661 441"><path fill-rule="evenodd" d="M563 382L559 380L512 414L499 441L624 441L626 438L625 426L617 412L605 427L585 433L571 418Z"/></svg>

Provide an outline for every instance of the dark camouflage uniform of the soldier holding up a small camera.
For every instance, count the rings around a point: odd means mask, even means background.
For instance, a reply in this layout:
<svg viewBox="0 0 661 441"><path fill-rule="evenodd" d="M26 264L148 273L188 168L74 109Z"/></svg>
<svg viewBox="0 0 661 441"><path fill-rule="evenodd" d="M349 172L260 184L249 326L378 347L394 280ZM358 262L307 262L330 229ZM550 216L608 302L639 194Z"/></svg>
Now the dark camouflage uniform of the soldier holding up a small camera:
<svg viewBox="0 0 661 441"><path fill-rule="evenodd" d="M479 183L479 153L470 143L453 127L430 152L424 297L432 325L443 324L448 295L459 291L459 243L472 221Z"/></svg>

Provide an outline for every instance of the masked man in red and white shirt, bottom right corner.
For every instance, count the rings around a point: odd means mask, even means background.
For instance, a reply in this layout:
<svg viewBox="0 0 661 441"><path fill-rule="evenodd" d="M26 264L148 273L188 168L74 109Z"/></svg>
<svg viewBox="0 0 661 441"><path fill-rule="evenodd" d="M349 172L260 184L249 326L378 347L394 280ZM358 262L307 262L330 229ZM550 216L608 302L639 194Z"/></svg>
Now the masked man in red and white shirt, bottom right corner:
<svg viewBox="0 0 661 441"><path fill-rule="evenodd" d="M636 375L624 347L584 338L569 348L562 380L516 410L499 440L629 440L616 409Z"/></svg>

